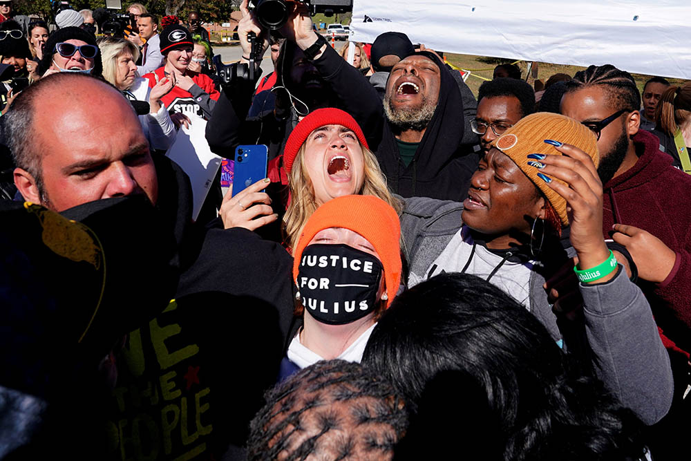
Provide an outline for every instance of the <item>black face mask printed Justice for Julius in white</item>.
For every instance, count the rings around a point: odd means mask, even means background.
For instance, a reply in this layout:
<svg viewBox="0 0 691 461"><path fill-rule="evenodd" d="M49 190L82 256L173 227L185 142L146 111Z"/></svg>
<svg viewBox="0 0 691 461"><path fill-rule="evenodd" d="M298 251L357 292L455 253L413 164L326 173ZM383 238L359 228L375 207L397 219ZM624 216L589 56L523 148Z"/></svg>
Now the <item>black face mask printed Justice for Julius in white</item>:
<svg viewBox="0 0 691 461"><path fill-rule="evenodd" d="M372 312L384 267L348 245L308 245L298 270L305 310L329 325L351 323Z"/></svg>

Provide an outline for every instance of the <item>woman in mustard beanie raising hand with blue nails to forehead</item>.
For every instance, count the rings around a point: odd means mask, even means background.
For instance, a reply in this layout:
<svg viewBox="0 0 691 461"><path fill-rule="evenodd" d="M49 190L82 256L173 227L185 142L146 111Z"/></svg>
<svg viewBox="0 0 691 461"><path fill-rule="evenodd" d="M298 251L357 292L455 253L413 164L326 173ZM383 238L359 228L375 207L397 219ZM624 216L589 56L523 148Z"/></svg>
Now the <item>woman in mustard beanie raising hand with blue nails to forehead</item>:
<svg viewBox="0 0 691 461"><path fill-rule="evenodd" d="M622 254L603 240L598 161L587 126L554 113L524 117L494 140L462 204L406 200L408 286L442 272L497 285L652 424L672 402L669 357Z"/></svg>

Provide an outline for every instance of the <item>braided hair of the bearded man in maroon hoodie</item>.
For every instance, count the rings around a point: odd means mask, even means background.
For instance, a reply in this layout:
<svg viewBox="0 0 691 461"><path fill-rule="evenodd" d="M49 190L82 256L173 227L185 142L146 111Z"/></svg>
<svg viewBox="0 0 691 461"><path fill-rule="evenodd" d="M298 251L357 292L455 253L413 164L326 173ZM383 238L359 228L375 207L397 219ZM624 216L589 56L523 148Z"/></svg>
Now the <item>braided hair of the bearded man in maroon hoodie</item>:
<svg viewBox="0 0 691 461"><path fill-rule="evenodd" d="M604 66L590 66L580 70L574 78L566 84L566 93L572 93L583 88L600 86L605 92L607 105L613 111L638 111L641 108L641 93L634 77L626 70L619 70L612 64Z"/></svg>

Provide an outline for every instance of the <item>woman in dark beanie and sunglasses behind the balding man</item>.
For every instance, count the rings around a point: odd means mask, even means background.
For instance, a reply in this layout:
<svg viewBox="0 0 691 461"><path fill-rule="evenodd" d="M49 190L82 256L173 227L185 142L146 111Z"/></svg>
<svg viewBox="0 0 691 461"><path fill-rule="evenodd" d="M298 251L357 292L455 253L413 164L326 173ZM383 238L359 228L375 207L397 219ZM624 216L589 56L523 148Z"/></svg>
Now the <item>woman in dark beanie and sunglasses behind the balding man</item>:
<svg viewBox="0 0 691 461"><path fill-rule="evenodd" d="M96 38L86 30L61 28L46 40L44 56L39 62L41 77L58 72L87 73L100 77L102 71Z"/></svg>

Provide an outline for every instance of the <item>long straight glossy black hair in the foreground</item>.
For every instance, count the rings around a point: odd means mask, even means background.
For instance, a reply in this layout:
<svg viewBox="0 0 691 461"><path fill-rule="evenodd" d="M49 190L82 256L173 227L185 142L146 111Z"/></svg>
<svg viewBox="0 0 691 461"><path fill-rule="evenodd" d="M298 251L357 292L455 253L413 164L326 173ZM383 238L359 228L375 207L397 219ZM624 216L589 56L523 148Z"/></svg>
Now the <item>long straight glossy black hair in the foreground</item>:
<svg viewBox="0 0 691 461"><path fill-rule="evenodd" d="M443 459L430 449L459 446L502 461L643 454L633 413L583 375L533 314L477 276L440 274L397 296L362 363L413 411L400 459Z"/></svg>

